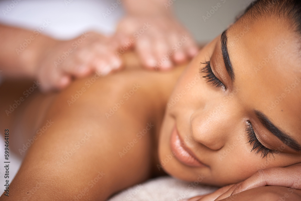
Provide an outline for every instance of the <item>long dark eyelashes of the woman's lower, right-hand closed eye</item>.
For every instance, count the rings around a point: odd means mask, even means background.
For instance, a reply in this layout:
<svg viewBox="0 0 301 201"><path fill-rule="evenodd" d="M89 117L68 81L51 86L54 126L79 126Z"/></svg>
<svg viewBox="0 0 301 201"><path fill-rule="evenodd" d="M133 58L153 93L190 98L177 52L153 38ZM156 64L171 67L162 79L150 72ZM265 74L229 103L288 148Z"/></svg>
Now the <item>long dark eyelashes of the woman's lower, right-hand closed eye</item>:
<svg viewBox="0 0 301 201"><path fill-rule="evenodd" d="M253 150L254 150L255 154L258 154L259 152L261 152L262 159L267 157L268 154L273 155L273 151L271 149L266 148L258 141L250 121L247 121L247 129L246 130L248 131L248 142L247 143L250 143L251 146L253 145L251 152Z"/></svg>

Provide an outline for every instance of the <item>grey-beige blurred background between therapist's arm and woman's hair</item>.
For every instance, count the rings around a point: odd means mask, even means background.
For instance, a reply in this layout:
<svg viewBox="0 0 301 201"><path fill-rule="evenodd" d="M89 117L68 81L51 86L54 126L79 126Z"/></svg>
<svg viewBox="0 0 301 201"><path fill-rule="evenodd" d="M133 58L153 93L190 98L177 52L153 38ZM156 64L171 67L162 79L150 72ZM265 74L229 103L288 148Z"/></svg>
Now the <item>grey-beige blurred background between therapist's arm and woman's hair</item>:
<svg viewBox="0 0 301 201"><path fill-rule="evenodd" d="M195 39L206 43L231 24L235 16L246 8L252 0L175 0L173 3L178 19L191 31ZM220 3L209 19L204 21L207 11ZM216 7L215 7L216 8ZM210 15L208 15L210 16Z"/></svg>

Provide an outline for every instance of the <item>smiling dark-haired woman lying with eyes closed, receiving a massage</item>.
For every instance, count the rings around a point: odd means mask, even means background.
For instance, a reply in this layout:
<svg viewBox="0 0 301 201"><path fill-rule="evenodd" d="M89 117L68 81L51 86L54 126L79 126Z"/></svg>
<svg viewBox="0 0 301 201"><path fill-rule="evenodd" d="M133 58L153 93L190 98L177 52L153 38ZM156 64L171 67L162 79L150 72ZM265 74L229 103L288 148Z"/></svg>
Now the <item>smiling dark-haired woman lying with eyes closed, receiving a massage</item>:
<svg viewBox="0 0 301 201"><path fill-rule="evenodd" d="M163 171L232 184L191 200L242 190L230 199L301 199L300 16L297 0L256 1L183 72L95 74L35 91L2 113L10 139L33 143L0 200L106 200ZM2 111L20 97L12 88L2 85ZM252 188L260 181L269 186Z"/></svg>

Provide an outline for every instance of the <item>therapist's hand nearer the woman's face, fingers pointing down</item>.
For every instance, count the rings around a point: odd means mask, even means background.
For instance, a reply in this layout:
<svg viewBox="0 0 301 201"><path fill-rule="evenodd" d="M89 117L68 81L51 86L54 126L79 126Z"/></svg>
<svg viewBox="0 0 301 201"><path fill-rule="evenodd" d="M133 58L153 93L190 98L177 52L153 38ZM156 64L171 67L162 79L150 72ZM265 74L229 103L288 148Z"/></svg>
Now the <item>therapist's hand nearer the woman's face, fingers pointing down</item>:
<svg viewBox="0 0 301 201"><path fill-rule="evenodd" d="M167 70L197 54L198 48L188 31L172 15L133 16L119 22L118 34L129 38L117 55L133 46L142 64L149 69Z"/></svg>

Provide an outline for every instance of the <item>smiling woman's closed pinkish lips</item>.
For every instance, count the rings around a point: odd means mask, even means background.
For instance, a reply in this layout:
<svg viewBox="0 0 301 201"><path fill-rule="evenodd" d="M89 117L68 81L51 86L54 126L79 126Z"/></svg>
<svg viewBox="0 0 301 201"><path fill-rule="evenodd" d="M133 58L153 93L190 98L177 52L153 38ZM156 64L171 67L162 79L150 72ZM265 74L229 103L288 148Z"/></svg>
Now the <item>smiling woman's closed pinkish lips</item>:
<svg viewBox="0 0 301 201"><path fill-rule="evenodd" d="M170 146L175 157L184 165L191 167L206 167L207 165L200 162L193 152L185 146L185 143L181 139L176 126L172 130L170 137Z"/></svg>

